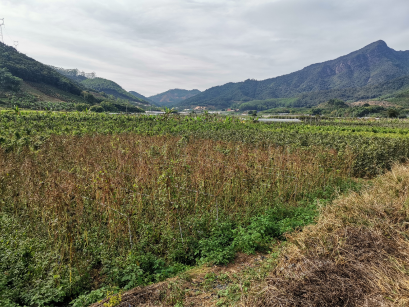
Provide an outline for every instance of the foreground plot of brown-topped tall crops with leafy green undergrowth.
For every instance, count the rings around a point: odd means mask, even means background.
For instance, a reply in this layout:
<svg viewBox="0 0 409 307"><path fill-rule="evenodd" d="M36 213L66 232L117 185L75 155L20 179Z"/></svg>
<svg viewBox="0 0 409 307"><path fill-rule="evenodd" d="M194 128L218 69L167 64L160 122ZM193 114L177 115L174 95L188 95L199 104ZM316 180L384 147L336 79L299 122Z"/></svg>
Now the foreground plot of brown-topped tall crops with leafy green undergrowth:
<svg viewBox="0 0 409 307"><path fill-rule="evenodd" d="M134 134L1 150L3 270L21 264L26 276L4 277L3 291L25 304L67 301L101 284L164 278L175 263L263 250L312 222L314 199L330 198L353 161L319 147Z"/></svg>

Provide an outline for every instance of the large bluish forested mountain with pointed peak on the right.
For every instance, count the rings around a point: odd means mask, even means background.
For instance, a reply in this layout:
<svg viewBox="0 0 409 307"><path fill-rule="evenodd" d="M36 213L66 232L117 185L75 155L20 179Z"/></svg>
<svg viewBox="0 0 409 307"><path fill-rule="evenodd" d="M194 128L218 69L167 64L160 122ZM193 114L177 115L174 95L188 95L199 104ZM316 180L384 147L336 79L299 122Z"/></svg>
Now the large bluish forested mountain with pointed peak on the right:
<svg viewBox="0 0 409 307"><path fill-rule="evenodd" d="M278 98L299 98L301 105L318 104L315 100L323 93L344 94L343 89L347 88L355 88L348 91L357 92L357 88L404 75L409 75L409 51L395 51L385 42L378 41L336 60L313 64L276 78L212 87L180 105L230 106L232 103Z"/></svg>

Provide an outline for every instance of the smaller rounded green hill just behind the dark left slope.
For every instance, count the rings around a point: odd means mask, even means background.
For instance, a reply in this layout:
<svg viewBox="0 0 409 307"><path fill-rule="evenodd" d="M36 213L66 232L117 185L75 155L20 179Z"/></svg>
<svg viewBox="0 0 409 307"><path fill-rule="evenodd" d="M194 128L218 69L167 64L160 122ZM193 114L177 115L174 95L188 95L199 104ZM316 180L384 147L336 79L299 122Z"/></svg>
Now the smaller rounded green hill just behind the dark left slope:
<svg viewBox="0 0 409 307"><path fill-rule="evenodd" d="M135 95L132 95L131 93L128 93L119 84L111 80L107 80L104 78L85 79L84 81L81 81L81 84L88 88L92 88L94 90L105 92L106 94L109 95L113 95L113 97L115 98L127 99L133 102L149 104L149 102L141 98L138 98Z"/></svg>

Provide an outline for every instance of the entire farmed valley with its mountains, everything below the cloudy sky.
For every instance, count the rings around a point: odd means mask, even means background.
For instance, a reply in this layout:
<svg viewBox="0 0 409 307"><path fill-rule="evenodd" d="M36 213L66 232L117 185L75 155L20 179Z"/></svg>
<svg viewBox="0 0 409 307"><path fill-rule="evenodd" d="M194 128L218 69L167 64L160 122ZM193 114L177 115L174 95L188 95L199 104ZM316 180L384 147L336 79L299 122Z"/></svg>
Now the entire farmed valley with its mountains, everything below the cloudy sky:
<svg viewBox="0 0 409 307"><path fill-rule="evenodd" d="M408 52L146 97L0 43L0 305L407 305Z"/></svg>

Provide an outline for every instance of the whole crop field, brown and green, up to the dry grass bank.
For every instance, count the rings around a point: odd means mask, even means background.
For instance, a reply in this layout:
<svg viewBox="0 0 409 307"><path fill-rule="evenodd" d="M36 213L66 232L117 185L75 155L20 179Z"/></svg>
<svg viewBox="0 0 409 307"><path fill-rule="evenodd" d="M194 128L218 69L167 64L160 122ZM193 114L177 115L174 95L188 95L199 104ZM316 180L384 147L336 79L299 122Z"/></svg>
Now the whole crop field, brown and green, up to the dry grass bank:
<svg viewBox="0 0 409 307"><path fill-rule="evenodd" d="M407 159L407 122L0 114L0 303L87 306L238 252Z"/></svg>

